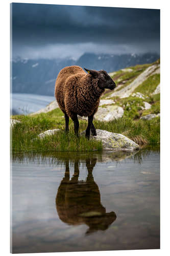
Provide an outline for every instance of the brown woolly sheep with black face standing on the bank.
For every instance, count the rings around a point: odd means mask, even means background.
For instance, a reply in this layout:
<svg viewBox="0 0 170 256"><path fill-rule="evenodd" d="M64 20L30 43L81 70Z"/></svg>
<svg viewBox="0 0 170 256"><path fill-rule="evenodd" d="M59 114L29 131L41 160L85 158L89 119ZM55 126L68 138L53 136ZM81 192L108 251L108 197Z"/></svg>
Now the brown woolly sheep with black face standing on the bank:
<svg viewBox="0 0 170 256"><path fill-rule="evenodd" d="M90 130L92 135L96 136L93 116L98 110L100 97L105 89L113 90L116 85L104 70L85 71L79 66L63 68L56 79L55 97L65 116L65 132L69 132L70 117L74 121L75 134L78 136L77 115L85 116L88 117L86 138L89 139Z"/></svg>

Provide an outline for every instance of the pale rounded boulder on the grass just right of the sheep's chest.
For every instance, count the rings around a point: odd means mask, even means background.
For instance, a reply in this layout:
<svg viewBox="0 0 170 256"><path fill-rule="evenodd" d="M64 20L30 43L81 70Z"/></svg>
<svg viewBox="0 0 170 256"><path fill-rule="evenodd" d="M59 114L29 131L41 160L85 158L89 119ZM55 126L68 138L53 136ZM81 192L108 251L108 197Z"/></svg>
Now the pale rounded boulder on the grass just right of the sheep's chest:
<svg viewBox="0 0 170 256"><path fill-rule="evenodd" d="M110 105L104 108L100 107L94 118L99 121L110 121L120 118L124 115L124 109L121 106Z"/></svg>

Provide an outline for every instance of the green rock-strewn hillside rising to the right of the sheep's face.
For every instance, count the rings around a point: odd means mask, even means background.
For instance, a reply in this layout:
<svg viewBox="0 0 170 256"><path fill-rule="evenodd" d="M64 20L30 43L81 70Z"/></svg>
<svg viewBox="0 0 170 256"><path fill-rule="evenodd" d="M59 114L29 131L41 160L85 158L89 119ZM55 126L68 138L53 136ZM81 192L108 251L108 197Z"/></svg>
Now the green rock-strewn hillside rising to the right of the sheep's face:
<svg viewBox="0 0 170 256"><path fill-rule="evenodd" d="M116 89L106 90L102 99L114 100L124 117L137 119L160 113L160 59L110 73Z"/></svg>

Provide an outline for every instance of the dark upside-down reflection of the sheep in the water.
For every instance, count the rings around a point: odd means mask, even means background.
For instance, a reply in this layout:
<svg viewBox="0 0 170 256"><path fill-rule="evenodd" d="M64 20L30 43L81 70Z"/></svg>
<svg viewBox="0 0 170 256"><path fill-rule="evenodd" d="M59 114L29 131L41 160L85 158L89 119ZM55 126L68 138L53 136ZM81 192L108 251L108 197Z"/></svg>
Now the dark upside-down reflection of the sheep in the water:
<svg viewBox="0 0 170 256"><path fill-rule="evenodd" d="M74 175L69 180L69 160L65 160L65 176L56 197L60 220L69 225L86 224L86 234L106 230L116 219L115 212L106 212L101 204L100 190L92 175L95 164L96 158L86 159L87 179L78 181L79 161L75 160Z"/></svg>

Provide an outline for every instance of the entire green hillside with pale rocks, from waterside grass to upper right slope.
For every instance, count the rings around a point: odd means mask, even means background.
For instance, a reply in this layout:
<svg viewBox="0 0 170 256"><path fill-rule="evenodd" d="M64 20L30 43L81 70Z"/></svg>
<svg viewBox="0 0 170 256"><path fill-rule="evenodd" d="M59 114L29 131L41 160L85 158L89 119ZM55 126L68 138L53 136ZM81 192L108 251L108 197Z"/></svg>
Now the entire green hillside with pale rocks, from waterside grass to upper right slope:
<svg viewBox="0 0 170 256"><path fill-rule="evenodd" d="M122 134L140 146L160 144L160 60L152 64L137 65L110 73L116 82L114 91L106 90L94 116L96 129ZM78 139L74 135L74 123L70 120L69 134L65 134L62 111L53 101L46 108L31 115L15 115L11 118L13 152L26 151L78 151L102 150L97 140ZM80 118L80 133L87 127ZM40 139L47 130L57 134Z"/></svg>

